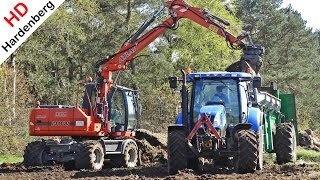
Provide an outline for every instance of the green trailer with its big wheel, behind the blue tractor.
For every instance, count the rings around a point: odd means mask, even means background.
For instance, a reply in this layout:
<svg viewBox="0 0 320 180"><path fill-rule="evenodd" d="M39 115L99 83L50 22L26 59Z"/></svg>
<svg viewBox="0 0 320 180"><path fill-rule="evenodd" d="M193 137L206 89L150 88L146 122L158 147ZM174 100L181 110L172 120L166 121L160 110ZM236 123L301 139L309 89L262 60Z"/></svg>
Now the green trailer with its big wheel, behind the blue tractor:
<svg viewBox="0 0 320 180"><path fill-rule="evenodd" d="M271 83L270 87L259 87L254 97L253 106L264 114L264 151L275 152L278 163L295 161L298 124L294 94L281 93Z"/></svg>

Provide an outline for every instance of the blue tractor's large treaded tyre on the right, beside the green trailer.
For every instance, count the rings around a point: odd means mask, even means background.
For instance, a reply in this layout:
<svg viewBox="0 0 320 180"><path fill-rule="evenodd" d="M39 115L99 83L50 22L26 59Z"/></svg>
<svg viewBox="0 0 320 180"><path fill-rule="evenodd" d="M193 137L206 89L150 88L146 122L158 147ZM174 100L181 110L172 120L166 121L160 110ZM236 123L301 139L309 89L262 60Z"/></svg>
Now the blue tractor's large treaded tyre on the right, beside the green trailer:
<svg viewBox="0 0 320 180"><path fill-rule="evenodd" d="M240 130L236 134L238 156L235 158L235 170L238 173L253 173L257 167L258 142L251 130Z"/></svg>

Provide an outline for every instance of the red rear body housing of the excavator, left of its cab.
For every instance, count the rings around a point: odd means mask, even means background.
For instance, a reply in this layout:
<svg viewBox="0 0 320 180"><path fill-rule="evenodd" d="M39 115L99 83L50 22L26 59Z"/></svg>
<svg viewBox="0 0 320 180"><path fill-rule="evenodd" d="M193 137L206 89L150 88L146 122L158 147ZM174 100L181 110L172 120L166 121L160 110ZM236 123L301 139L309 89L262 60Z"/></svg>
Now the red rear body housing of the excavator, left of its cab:
<svg viewBox="0 0 320 180"><path fill-rule="evenodd" d="M34 108L30 114L31 136L104 136L101 128L81 108Z"/></svg>

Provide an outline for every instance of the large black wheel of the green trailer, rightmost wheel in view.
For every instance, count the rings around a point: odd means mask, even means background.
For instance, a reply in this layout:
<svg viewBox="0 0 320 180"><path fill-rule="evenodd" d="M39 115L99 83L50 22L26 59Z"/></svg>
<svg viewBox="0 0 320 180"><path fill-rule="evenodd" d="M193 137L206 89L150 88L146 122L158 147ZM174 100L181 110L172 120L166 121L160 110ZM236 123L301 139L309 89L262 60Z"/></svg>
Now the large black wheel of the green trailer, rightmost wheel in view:
<svg viewBox="0 0 320 180"><path fill-rule="evenodd" d="M296 133L292 124L281 123L277 125L274 149L278 164L297 160Z"/></svg>

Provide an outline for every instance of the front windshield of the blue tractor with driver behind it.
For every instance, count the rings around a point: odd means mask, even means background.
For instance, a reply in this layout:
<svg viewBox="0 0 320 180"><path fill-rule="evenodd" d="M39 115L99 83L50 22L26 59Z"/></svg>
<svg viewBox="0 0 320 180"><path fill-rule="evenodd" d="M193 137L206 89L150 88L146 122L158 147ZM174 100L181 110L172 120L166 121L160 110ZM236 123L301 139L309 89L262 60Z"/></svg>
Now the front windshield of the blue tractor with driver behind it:
<svg viewBox="0 0 320 180"><path fill-rule="evenodd" d="M240 117L238 97L238 84L236 80L196 80L193 99L193 122L198 120L202 106L213 104L222 104L226 107L228 124L238 122Z"/></svg>

